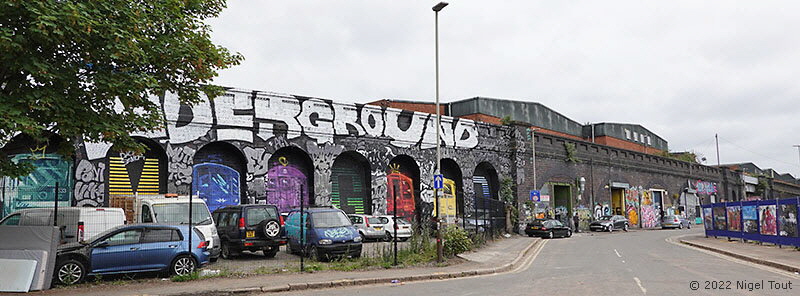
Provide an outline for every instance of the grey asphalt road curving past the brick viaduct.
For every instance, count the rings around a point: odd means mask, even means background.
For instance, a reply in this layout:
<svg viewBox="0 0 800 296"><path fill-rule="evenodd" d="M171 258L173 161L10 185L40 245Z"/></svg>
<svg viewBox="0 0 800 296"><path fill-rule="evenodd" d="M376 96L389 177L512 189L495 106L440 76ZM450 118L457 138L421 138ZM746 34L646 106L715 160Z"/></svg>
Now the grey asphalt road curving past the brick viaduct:
<svg viewBox="0 0 800 296"><path fill-rule="evenodd" d="M538 255L529 257L531 260L526 262L529 265L504 274L291 294L800 295L800 276L796 274L728 259L667 240L700 231L579 234L568 239L546 240ZM781 289L771 287L769 281L781 283Z"/></svg>

